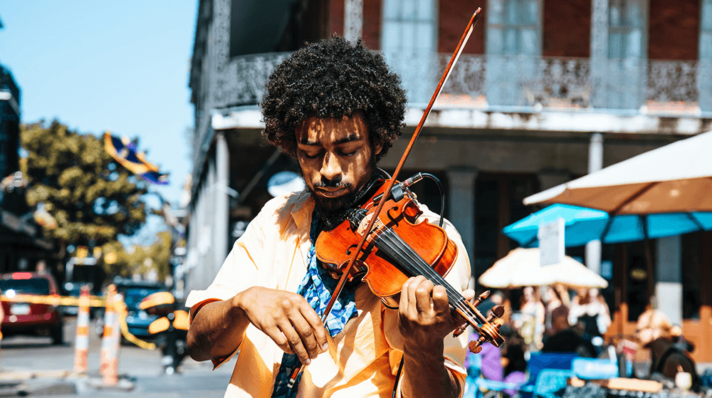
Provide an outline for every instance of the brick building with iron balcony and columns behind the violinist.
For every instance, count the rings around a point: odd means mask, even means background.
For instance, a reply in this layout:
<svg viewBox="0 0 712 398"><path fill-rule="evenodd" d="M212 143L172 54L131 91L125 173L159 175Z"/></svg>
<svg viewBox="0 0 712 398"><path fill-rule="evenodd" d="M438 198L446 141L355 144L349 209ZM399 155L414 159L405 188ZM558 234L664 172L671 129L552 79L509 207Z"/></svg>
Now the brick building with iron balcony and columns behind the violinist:
<svg viewBox="0 0 712 398"><path fill-rule="evenodd" d="M473 276L515 247L501 229L537 209L522 199L712 129L712 0L483 0L483 16L402 171L438 176ZM476 5L473 5L474 8ZM201 0L190 74L195 105L187 289L214 278L231 243L295 169L261 138L263 83L299 43L363 38L402 77L404 137L394 169L474 9L456 0ZM438 211L434 186L414 190ZM610 281L609 334L632 335L656 305L712 361L712 237L591 244L568 254ZM692 274L693 272L693 274ZM690 277L689 275L694 275Z"/></svg>

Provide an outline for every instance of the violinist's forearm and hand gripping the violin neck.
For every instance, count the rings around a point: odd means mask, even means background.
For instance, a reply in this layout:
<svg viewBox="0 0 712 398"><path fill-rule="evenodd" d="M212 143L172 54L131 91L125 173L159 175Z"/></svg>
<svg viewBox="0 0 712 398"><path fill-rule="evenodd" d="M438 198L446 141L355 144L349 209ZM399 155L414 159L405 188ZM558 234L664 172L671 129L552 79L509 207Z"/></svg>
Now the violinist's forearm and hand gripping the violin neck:
<svg viewBox="0 0 712 398"><path fill-rule="evenodd" d="M465 296L473 297L469 290ZM459 397L456 377L444 365L443 339L464 320L450 313L447 294L423 276L409 278L399 302L403 336L402 397Z"/></svg>

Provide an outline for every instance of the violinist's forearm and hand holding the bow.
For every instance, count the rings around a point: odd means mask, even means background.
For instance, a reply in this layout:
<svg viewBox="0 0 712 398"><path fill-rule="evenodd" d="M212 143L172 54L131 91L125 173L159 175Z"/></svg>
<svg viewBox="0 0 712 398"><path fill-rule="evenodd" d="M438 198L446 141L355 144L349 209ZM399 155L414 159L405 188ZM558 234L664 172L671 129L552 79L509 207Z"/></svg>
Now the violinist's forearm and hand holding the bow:
<svg viewBox="0 0 712 398"><path fill-rule="evenodd" d="M328 347L320 318L301 295L256 286L194 314L187 335L190 356L203 361L231 355L250 323L305 365Z"/></svg>

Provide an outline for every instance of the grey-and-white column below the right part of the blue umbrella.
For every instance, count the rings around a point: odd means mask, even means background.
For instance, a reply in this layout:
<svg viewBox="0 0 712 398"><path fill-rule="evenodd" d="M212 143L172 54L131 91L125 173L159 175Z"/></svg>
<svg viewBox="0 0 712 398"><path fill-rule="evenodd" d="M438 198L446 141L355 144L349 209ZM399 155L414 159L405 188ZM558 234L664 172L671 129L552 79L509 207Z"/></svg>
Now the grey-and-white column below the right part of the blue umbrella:
<svg viewBox="0 0 712 398"><path fill-rule="evenodd" d="M675 325L682 325L682 242L680 236L657 240L656 308L670 317Z"/></svg>

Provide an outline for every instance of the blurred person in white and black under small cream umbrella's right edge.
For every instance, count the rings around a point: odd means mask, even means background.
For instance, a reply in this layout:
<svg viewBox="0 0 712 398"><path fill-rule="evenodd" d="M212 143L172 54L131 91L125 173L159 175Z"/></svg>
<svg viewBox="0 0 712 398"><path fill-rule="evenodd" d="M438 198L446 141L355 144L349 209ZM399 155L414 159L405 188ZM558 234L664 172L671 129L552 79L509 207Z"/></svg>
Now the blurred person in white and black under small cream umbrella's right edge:
<svg viewBox="0 0 712 398"><path fill-rule="evenodd" d="M602 335L611 324L611 315L603 297L597 288L580 289L572 300L569 310L569 323L582 323L585 335L590 336L594 345L603 343Z"/></svg>

